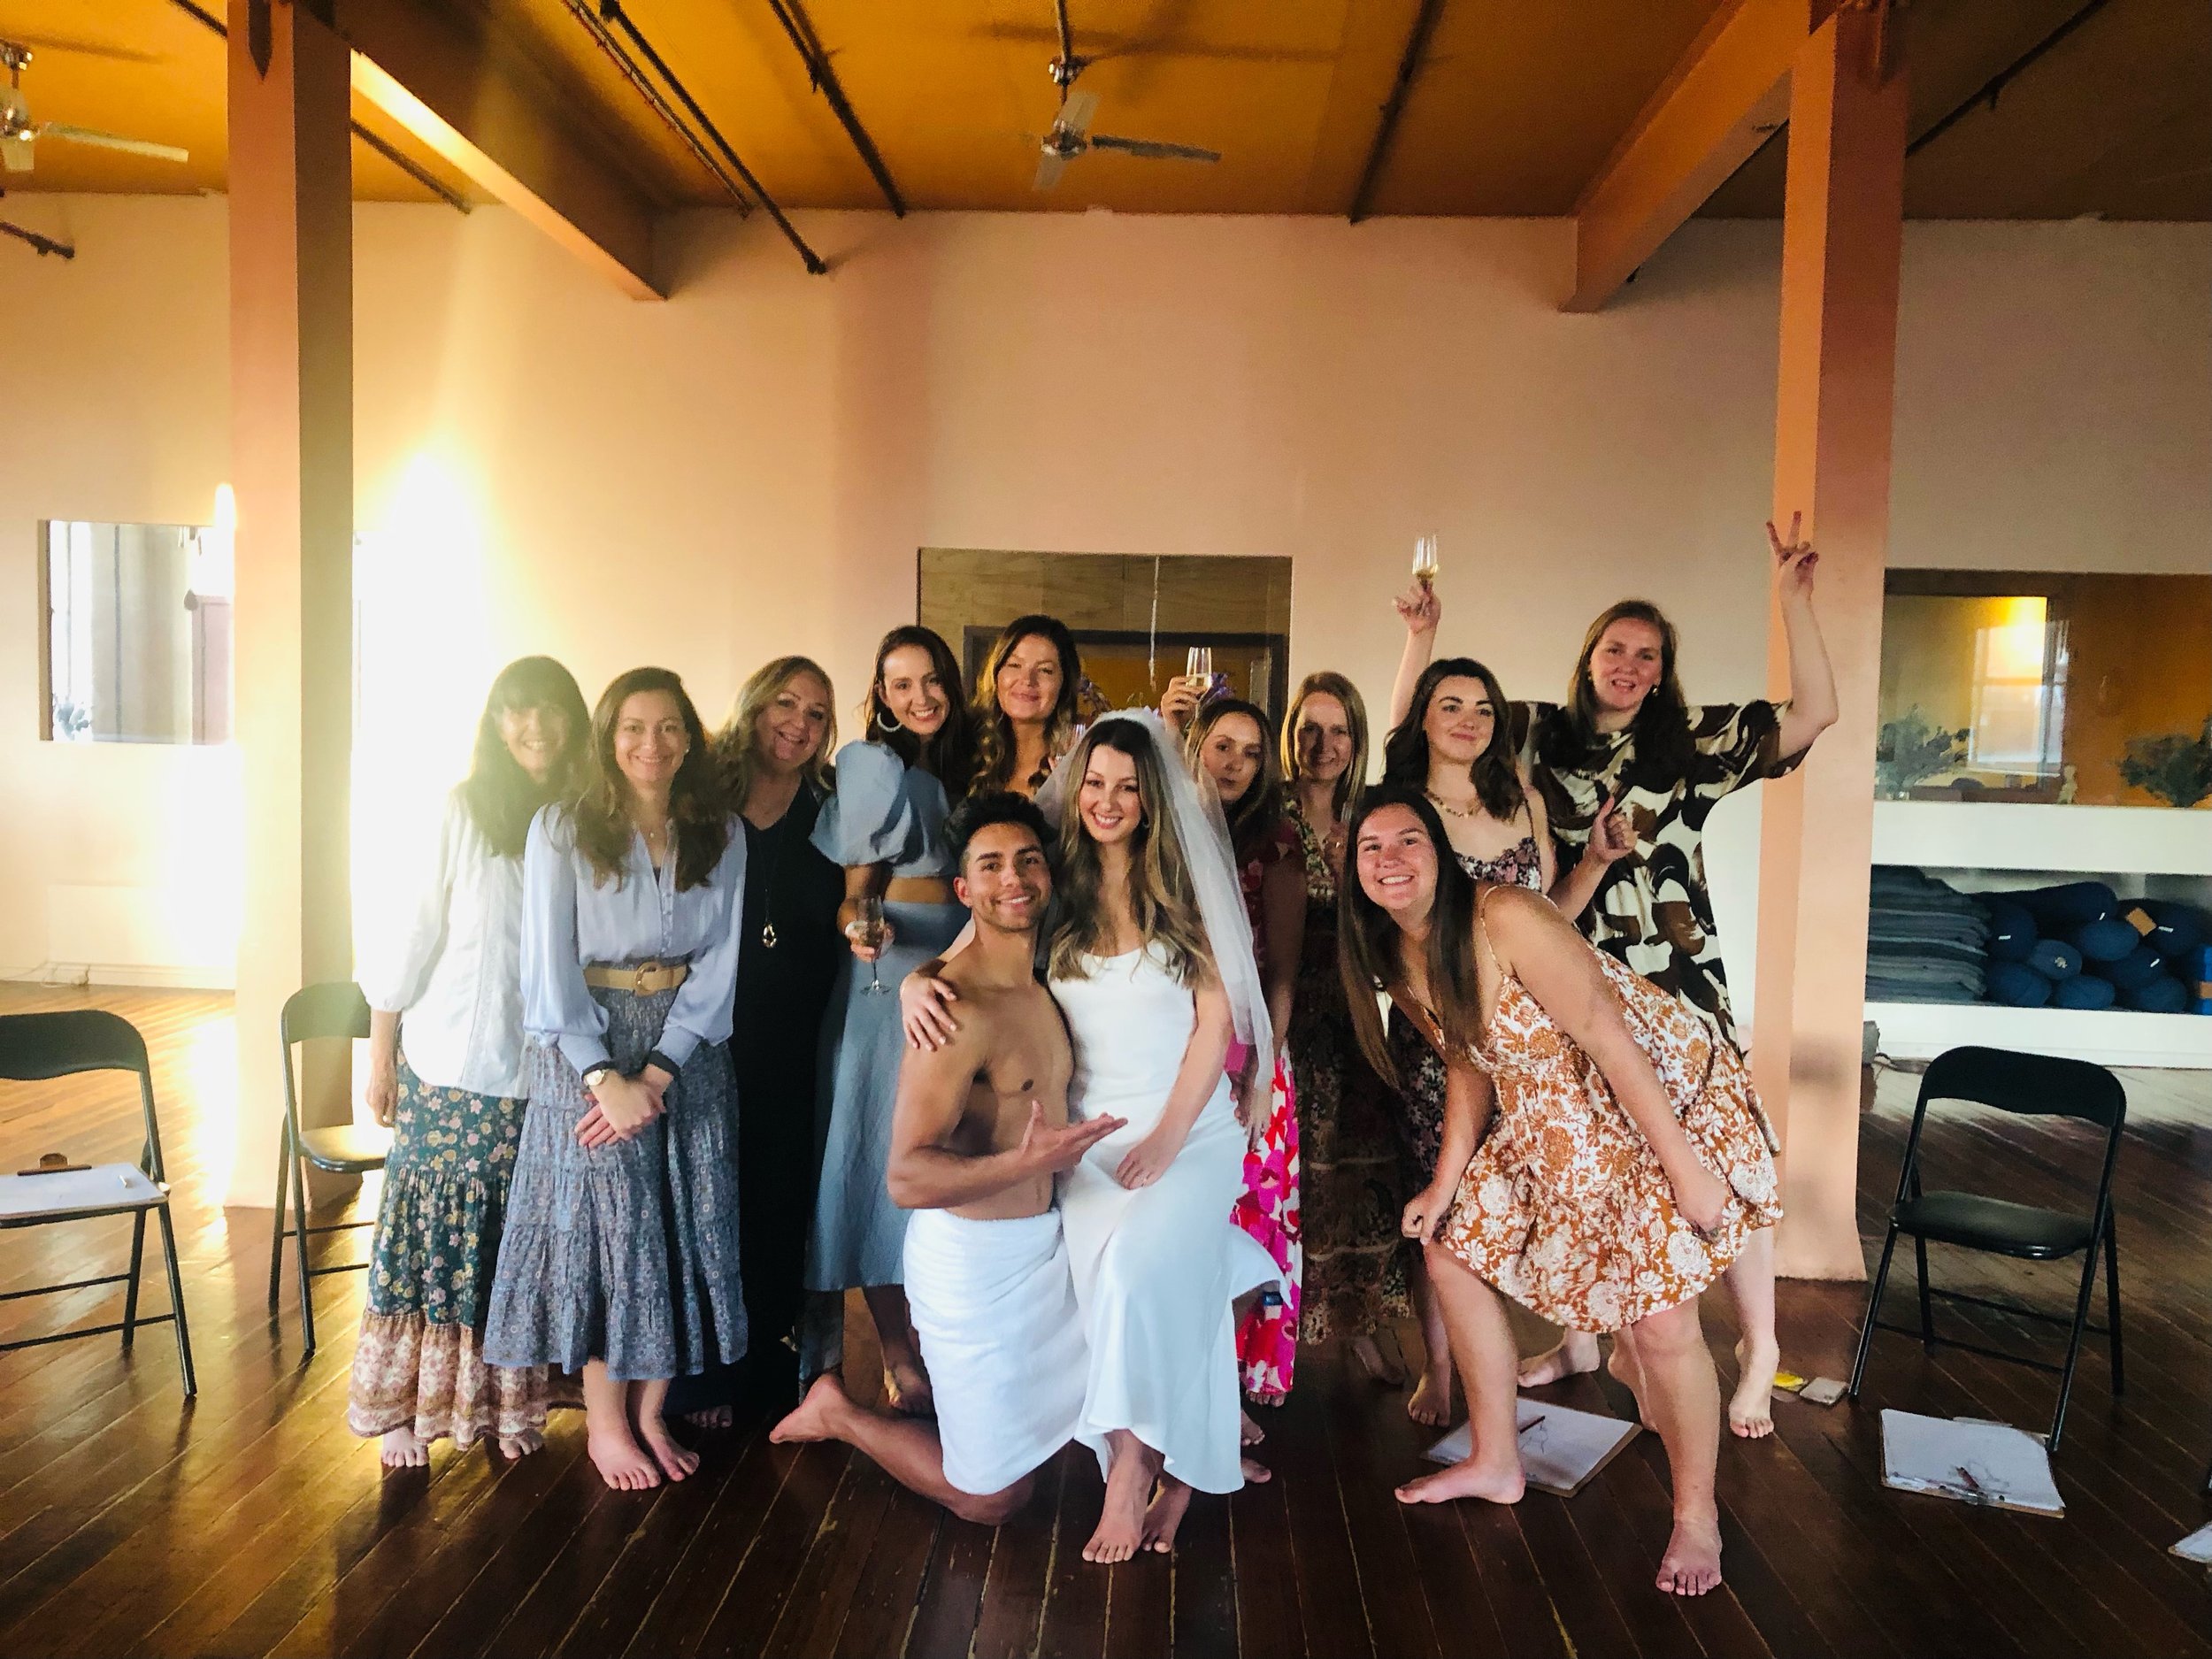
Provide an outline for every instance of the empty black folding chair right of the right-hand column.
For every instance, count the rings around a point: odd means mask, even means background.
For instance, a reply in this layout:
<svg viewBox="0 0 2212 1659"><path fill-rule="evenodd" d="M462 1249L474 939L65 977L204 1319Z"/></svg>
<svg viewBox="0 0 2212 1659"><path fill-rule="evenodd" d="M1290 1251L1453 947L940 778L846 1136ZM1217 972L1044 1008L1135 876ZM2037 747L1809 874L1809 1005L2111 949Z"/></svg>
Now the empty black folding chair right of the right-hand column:
<svg viewBox="0 0 2212 1659"><path fill-rule="evenodd" d="M2104 1166L2097 1175L2097 1199L2088 1212L2044 1210L2031 1203L2013 1203L1982 1192L1927 1192L1920 1179L1920 1130L1927 1126L1929 1104L1938 1099L1962 1099L1980 1106L1995 1106L2020 1117L2075 1117L2104 1130ZM1882 1265L1874 1272L1874 1287L1867 1294L1867 1318L1858 1332L1858 1358L1851 1363L1851 1398L1867 1374L1867 1349L1874 1332L1918 1334L1927 1352L1936 1352L1938 1340L1982 1354L1993 1360L2033 1365L2042 1371L2059 1374L2059 1402L2051 1413L2051 1451L2059 1449L2059 1433L2066 1427L2066 1400L2073 1394L2075 1360L2081 1356L2081 1336L2106 1336L2112 1349L2112 1394L2126 1387L2119 1347L2119 1234L2112 1221L2112 1166L2119 1161L2119 1135L2128 1121L2128 1091L2119 1077L2086 1060L2055 1060L2048 1055L2022 1055L2008 1048L1951 1048L1938 1055L1920 1079L1920 1102L1913 1106L1913 1133L1905 1141L1905 1168L1898 1172L1898 1199L1889 1208L1889 1234L1882 1239ZM1882 1305L1882 1287L1889 1283L1889 1259L1898 1245L1898 1234L1911 1234L1913 1254L1920 1270L1920 1327L1882 1325L1876 1314ZM1949 1243L1962 1250L1984 1250L2015 1261L2066 1261L2081 1256L2081 1287L2075 1296L2073 1316L2051 1314L2020 1303L1989 1296L1966 1296L1929 1285L1929 1241ZM2106 1323L2088 1323L2088 1303L2097 1290L2097 1252L2104 1250L2104 1298ZM2051 1325L2070 1325L2066 1336L2066 1360L2053 1365L2028 1354L1982 1347L1958 1336L1936 1336L1936 1314L1931 1298L1942 1296L1953 1303L1993 1307L2015 1318L2035 1318Z"/></svg>

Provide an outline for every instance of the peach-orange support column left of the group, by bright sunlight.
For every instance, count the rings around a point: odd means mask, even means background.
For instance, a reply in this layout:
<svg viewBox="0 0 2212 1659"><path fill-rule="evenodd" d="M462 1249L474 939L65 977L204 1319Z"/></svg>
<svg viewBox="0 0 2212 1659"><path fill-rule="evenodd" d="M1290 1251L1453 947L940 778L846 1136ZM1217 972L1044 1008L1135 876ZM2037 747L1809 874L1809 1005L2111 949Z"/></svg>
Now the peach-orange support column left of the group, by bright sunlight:
<svg viewBox="0 0 2212 1659"><path fill-rule="evenodd" d="M354 975L352 53L312 0L230 0L230 478L246 883L230 1203L276 1197L276 1013ZM345 1121L338 1055L307 1121Z"/></svg>

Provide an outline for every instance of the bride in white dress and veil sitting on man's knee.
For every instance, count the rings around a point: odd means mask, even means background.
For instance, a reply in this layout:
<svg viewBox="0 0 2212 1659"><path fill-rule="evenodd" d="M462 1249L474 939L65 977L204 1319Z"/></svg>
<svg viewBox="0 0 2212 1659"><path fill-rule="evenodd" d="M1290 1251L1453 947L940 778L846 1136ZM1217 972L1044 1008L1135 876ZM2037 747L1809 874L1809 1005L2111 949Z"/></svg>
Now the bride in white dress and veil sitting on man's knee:
<svg viewBox="0 0 2212 1659"><path fill-rule="evenodd" d="M1157 717L1102 719L1046 787L1068 1115L1128 1119L1060 1194L1091 1349L1077 1438L1106 1471L1084 1559L1124 1562L1172 1548L1192 1489L1243 1484L1230 1303L1279 1272L1230 1219L1245 1130L1223 1062L1232 1035L1265 1044L1270 1026L1219 803Z"/></svg>

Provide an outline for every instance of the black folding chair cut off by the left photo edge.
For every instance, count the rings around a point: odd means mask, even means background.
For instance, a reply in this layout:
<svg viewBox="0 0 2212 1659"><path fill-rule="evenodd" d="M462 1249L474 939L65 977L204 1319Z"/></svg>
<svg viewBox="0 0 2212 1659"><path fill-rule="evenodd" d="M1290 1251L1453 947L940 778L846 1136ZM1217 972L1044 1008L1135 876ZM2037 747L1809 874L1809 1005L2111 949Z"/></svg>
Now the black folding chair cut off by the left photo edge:
<svg viewBox="0 0 2212 1659"><path fill-rule="evenodd" d="M168 1321L177 1327L177 1369L184 1376L184 1398L199 1394L192 1378L192 1332L184 1318L184 1276L177 1272L177 1228L168 1214L168 1177L161 1170L161 1124L153 1108L153 1068L146 1062L146 1040L137 1026L104 1009L66 1013L0 1015L0 1077L11 1082L46 1082L86 1071L128 1071L139 1079L139 1110L146 1117L146 1141L137 1164L93 1164L82 1170L0 1175L0 1228L44 1228L58 1221L93 1217L131 1217L131 1272L73 1279L66 1285L11 1290L0 1301L22 1296L58 1296L64 1290L91 1285L126 1285L124 1316L108 1325L84 1325L53 1336L27 1336L0 1343L0 1352L69 1343L80 1336L122 1332L124 1354L139 1325ZM161 1250L168 1261L168 1312L142 1314L137 1305L139 1267L146 1259L146 1214L161 1221Z"/></svg>

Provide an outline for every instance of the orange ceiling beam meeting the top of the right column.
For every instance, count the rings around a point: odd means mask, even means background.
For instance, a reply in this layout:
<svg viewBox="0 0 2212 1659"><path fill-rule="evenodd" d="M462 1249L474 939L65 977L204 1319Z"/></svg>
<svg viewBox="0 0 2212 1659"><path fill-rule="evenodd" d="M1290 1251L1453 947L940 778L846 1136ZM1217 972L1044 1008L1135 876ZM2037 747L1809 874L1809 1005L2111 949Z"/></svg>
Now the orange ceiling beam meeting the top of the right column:
<svg viewBox="0 0 2212 1659"><path fill-rule="evenodd" d="M1790 64L1832 0L1736 0L1699 31L1575 204L1575 288L1595 312L1790 117Z"/></svg>

